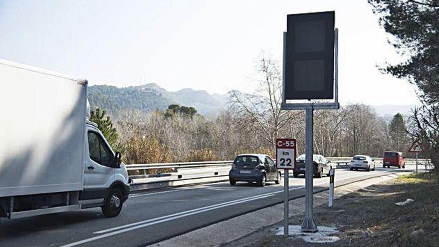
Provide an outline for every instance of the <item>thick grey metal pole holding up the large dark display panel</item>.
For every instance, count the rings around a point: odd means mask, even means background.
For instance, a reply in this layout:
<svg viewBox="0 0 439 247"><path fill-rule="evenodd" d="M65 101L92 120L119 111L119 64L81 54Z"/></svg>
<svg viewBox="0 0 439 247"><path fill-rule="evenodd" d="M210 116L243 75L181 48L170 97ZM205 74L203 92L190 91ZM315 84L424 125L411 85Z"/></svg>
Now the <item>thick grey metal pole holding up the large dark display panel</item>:
<svg viewBox="0 0 439 247"><path fill-rule="evenodd" d="M313 219L313 117L314 109L311 104L305 109L305 219L302 223L303 232L317 232L317 225Z"/></svg>

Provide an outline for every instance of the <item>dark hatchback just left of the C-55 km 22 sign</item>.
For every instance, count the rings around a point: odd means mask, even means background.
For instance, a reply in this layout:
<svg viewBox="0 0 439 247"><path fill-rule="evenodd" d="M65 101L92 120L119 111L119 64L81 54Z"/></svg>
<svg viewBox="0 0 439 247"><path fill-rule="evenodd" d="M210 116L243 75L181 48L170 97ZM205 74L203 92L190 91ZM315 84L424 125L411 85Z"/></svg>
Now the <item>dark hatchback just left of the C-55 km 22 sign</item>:
<svg viewBox="0 0 439 247"><path fill-rule="evenodd" d="M233 161L228 179L230 185L235 185L237 181L245 181L256 182L258 186L264 186L267 181L280 184L282 177L273 159L268 155L241 154Z"/></svg>

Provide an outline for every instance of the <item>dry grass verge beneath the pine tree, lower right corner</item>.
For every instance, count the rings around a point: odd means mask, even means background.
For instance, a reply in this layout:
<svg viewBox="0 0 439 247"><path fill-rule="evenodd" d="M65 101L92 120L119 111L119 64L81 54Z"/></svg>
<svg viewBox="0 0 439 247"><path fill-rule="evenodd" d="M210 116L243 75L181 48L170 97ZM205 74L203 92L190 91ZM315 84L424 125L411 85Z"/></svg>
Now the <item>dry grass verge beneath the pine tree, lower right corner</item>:
<svg viewBox="0 0 439 247"><path fill-rule="evenodd" d="M395 203L413 199L406 206ZM273 226L231 243L233 246L355 246L355 247L439 247L439 176L419 173L401 176L341 197L335 207L317 207L319 226L334 226L341 240L333 244L309 244L301 239L273 237ZM303 215L290 219L301 225ZM280 226L280 225L279 225Z"/></svg>

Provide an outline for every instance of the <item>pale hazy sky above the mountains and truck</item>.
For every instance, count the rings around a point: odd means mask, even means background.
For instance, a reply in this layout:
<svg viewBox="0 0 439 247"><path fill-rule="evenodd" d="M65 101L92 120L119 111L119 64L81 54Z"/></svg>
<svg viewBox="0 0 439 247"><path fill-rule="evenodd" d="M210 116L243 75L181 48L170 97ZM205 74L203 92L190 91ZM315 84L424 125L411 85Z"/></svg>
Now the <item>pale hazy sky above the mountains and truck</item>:
<svg viewBox="0 0 439 247"><path fill-rule="evenodd" d="M335 10L340 102L415 104L381 74L401 60L367 0L0 0L0 58L118 87L254 90L264 50L282 57L290 13Z"/></svg>

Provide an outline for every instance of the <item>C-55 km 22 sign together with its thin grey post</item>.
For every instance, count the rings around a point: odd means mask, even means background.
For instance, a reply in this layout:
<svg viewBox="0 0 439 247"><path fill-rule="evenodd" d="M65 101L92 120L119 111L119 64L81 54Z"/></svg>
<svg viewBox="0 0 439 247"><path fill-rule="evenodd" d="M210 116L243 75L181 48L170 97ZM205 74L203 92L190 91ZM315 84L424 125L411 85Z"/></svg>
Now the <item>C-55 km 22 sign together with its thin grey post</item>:
<svg viewBox="0 0 439 247"><path fill-rule="evenodd" d="M296 139L276 139L276 167L283 171L283 236L288 238L289 170L296 164Z"/></svg>

